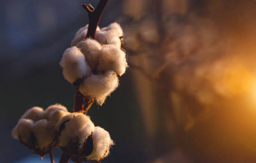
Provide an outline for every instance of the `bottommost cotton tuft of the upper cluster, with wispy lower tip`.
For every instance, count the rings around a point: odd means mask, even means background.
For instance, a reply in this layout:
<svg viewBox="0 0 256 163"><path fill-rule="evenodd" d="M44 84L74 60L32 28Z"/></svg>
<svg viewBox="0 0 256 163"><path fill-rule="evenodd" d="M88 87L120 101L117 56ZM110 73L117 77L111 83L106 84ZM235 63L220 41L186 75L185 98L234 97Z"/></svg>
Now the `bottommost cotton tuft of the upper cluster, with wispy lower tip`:
<svg viewBox="0 0 256 163"><path fill-rule="evenodd" d="M79 91L84 96L90 96L102 105L108 95L118 87L118 77L114 71L104 74L92 74L80 84Z"/></svg>

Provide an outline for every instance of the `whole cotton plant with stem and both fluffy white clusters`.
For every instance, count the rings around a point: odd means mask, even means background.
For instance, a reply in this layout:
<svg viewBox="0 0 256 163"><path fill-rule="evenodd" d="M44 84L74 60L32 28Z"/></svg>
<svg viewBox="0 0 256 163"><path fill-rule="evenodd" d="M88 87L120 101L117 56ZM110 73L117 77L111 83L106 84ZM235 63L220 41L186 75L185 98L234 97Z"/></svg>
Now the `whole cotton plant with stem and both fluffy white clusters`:
<svg viewBox="0 0 256 163"><path fill-rule="evenodd" d="M114 145L105 129L95 126L87 114L90 106L105 99L118 87L119 78L128 68L123 50L123 30L118 23L98 26L108 0L100 0L97 8L82 5L88 12L89 24L80 28L60 61L64 78L77 87L74 109L69 112L61 104L44 110L27 110L12 131L13 138L41 157L61 148L59 163L100 162Z"/></svg>

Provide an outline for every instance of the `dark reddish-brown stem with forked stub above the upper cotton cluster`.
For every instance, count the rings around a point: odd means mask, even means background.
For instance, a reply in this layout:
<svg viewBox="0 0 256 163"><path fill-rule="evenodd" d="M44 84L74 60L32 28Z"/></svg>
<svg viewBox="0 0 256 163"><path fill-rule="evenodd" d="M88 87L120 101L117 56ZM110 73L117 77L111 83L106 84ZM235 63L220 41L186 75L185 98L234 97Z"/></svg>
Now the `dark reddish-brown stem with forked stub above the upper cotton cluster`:
<svg viewBox="0 0 256 163"><path fill-rule="evenodd" d="M103 13L107 3L108 3L108 0L100 0L100 2L98 3L95 10L91 4L89 4L89 5L83 4L82 5L82 7L84 8L84 10L87 11L88 16L89 16L89 26L88 26L86 38L94 38L97 26L100 22L100 18L102 16L102 13Z"/></svg>

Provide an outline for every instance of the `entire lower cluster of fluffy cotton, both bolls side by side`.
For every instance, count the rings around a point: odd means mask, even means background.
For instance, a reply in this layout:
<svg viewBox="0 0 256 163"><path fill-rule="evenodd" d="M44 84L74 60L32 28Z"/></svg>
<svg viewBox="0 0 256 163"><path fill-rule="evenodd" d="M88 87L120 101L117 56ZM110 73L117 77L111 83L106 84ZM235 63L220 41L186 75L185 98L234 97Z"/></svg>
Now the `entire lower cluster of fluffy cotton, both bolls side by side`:
<svg viewBox="0 0 256 163"><path fill-rule="evenodd" d="M101 127L95 127L90 117L79 112L70 113L61 104L46 110L32 107L20 118L12 132L13 138L45 155L61 147L72 160L102 160L107 157L113 140Z"/></svg>

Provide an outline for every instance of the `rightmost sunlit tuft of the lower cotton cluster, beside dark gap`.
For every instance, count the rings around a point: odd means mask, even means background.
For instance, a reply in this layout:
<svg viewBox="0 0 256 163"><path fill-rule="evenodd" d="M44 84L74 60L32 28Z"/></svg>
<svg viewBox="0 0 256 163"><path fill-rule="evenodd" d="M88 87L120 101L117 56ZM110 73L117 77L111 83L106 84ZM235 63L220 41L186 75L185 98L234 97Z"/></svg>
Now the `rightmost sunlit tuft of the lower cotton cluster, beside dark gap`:
<svg viewBox="0 0 256 163"><path fill-rule="evenodd" d="M97 126L92 132L93 150L92 153L86 158L90 160L101 160L108 156L109 148L114 145L113 140L110 138L108 131Z"/></svg>

